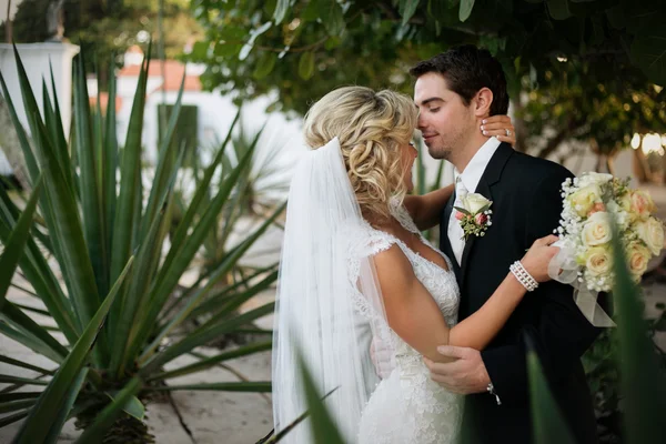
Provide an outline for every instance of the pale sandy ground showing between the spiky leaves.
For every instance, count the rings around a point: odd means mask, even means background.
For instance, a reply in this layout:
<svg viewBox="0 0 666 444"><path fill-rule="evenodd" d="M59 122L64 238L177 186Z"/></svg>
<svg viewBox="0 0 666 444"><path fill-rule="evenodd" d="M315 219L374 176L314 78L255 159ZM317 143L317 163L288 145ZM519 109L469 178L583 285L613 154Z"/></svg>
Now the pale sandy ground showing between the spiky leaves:
<svg viewBox="0 0 666 444"><path fill-rule="evenodd" d="M666 188L650 186L655 201L660 206L659 216L666 220ZM280 246L280 236L278 233L270 234L261 246L251 251L253 262L270 263L276 258ZM656 261L654 262L656 264ZM185 279L189 279L185 276ZM190 278L191 279L191 278ZM644 282L646 316L654 317L660 310L658 304L666 304L666 284L657 282L655 279L647 279ZM26 295L24 293L10 289L8 296L12 301L39 306L40 302ZM251 310L270 300L274 295L264 293L249 303L243 310ZM39 316L38 316L39 317ZM272 325L271 316L259 321L260 326L270 329ZM666 349L666 334L660 334L657 342ZM219 350L198 349L198 352L204 354L219 353ZM0 335L0 354L19 359L36 365L47 366L49 369L56 365L43 356L37 355L31 350L21 344ZM181 357L167 365L168 369L178 367L191 361L191 357ZM270 352L255 354L249 357L236 359L226 363L234 372L238 372L252 381L269 381L271 377L271 355ZM21 376L32 376L31 372L19 371L16 367L0 363L0 374L13 374ZM226 382L239 381L239 377L224 369L214 369L194 375L188 375L170 380L170 384L185 384L198 382ZM1 387L1 386L0 386ZM32 387L34 390L34 387ZM28 389L30 390L30 387ZM147 406L148 424L151 433L155 435L159 444L249 444L255 443L272 428L272 412L270 395L254 393L225 393L225 392L195 392L180 391L174 392L173 398L182 416L183 423L191 432L191 436L185 433L178 415L169 403L151 402ZM0 428L0 443L9 442L16 434L20 423ZM73 421L65 424L59 442L73 442L79 432L73 426Z"/></svg>

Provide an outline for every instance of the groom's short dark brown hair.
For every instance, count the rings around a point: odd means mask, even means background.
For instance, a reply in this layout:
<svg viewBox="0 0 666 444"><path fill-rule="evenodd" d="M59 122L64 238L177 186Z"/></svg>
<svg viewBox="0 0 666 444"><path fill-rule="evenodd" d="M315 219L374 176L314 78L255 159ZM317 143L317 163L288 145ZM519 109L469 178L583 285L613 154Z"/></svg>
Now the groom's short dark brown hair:
<svg viewBox="0 0 666 444"><path fill-rule="evenodd" d="M415 78L436 72L446 79L448 89L463 98L468 105L478 90L487 88L493 91L491 115L506 114L508 93L506 78L502 64L486 49L473 44L451 48L432 59L418 62L410 70Z"/></svg>

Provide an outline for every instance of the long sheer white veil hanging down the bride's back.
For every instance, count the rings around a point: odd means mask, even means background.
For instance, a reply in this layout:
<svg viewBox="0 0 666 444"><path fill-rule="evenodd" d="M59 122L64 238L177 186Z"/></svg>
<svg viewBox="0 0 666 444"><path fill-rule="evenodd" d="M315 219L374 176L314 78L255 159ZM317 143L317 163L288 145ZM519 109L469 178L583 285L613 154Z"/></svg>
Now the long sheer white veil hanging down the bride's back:
<svg viewBox="0 0 666 444"><path fill-rule="evenodd" d="M354 442L362 411L380 382L371 341L390 347L386 324L359 314L360 305L385 320L372 259L354 253L364 226L337 138L307 152L291 182L273 333L275 433L307 411L297 350L346 442ZM393 366L393 362L377 365ZM310 422L282 442L312 443Z"/></svg>

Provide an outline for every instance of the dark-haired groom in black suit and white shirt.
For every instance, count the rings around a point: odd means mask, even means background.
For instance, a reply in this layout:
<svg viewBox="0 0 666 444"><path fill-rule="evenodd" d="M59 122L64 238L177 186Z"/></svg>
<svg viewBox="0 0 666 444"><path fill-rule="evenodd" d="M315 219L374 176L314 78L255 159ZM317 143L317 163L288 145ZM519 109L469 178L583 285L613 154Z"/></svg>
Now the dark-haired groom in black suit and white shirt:
<svg viewBox="0 0 666 444"><path fill-rule="evenodd" d="M478 131L483 119L506 114L508 109L504 72L488 51L457 47L410 72L416 78L418 129L430 154L455 167L456 192L442 214L440 248L454 263L461 289L458 320L463 320L486 302L532 242L558 226L561 184L572 173ZM453 206L474 192L493 201L492 226L484 236L464 241ZM442 346L440 353L455 360L445 364L426 360L426 364L434 381L467 395L464 444L531 443L525 360L529 343L577 442L596 443L592 397L579 357L598 333L574 304L573 289L548 282L523 300L486 350Z"/></svg>

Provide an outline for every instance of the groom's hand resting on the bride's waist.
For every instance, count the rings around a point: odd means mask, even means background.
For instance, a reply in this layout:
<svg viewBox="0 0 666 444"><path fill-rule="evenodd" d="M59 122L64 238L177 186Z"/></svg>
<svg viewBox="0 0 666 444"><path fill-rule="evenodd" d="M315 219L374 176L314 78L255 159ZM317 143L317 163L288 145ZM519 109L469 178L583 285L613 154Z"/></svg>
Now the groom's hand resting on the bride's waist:
<svg viewBox="0 0 666 444"><path fill-rule="evenodd" d="M451 362L433 362L424 357L431 371L431 379L444 389L463 395L485 392L491 377L478 350L442 345L441 355L451 357Z"/></svg>

